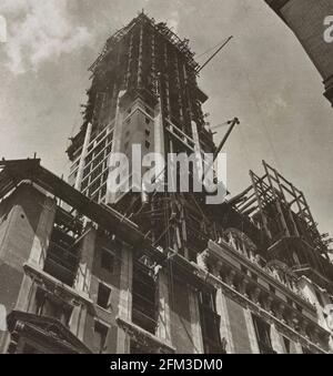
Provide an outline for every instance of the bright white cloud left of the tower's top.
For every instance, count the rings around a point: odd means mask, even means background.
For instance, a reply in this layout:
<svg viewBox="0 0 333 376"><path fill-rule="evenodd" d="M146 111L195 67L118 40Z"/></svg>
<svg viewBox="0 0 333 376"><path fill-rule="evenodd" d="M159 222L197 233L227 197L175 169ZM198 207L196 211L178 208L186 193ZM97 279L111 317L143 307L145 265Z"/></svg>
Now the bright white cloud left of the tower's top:
<svg viewBox="0 0 333 376"><path fill-rule="evenodd" d="M8 17L7 68L14 74L39 67L91 42L87 27L75 26L69 0L1 0Z"/></svg>

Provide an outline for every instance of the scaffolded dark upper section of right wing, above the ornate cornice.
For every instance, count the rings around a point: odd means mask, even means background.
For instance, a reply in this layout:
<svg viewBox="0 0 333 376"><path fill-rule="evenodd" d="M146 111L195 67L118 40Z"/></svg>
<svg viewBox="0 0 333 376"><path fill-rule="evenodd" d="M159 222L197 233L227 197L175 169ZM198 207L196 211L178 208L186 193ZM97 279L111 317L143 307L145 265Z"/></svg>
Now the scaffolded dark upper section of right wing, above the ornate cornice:
<svg viewBox="0 0 333 376"><path fill-rule="evenodd" d="M252 185L238 196L236 211L264 234L268 260L281 260L332 289L327 234L320 233L303 192L264 161L263 166L261 177L250 171Z"/></svg>

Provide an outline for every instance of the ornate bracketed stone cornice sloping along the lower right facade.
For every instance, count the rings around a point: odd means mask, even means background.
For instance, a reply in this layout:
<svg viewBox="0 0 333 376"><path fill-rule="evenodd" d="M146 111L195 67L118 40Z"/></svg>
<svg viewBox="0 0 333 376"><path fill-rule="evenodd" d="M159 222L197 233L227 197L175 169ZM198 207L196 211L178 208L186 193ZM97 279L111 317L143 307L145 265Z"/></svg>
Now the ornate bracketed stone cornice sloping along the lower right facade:
<svg viewBox="0 0 333 376"><path fill-rule="evenodd" d="M218 258L215 253L209 253L209 257L205 256L205 262L220 265L220 270L215 266L214 275L212 275L206 271L200 272L198 268L199 277L221 289L225 296L234 299L244 308L251 309L268 323L275 324L279 332L285 333L295 343L311 348L313 353L323 353L327 349L325 338L329 334L322 327L290 306L287 302L282 301L276 294L264 288L255 280L245 275L235 265L225 262L222 254ZM311 333L311 337L309 337L309 333ZM322 338L321 343L317 338Z"/></svg>

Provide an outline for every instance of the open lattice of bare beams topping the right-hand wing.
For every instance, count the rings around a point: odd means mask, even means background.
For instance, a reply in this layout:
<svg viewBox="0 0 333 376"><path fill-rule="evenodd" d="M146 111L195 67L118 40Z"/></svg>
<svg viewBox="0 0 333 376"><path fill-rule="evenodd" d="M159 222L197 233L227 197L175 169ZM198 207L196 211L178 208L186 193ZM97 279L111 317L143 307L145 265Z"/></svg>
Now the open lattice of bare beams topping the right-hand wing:
<svg viewBox="0 0 333 376"><path fill-rule="evenodd" d="M322 242L303 192L264 161L263 166L262 177L250 171L252 185L236 205L238 211L263 227L271 244L282 237L302 237L321 254L326 254L326 244Z"/></svg>

